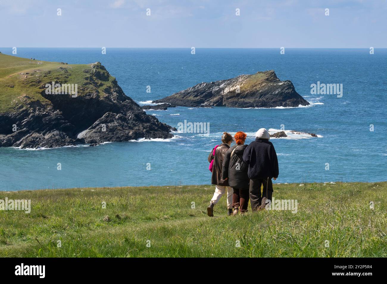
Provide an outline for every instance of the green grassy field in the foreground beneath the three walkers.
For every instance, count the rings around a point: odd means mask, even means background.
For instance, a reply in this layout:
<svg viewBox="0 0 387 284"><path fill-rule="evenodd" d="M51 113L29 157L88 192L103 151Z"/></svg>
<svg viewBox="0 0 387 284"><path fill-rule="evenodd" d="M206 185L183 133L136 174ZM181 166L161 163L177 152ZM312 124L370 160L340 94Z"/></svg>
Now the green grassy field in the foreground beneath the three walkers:
<svg viewBox="0 0 387 284"><path fill-rule="evenodd" d="M29 214L0 211L0 256L385 257L386 190L387 182L276 184L274 198L297 199L297 213L249 205L228 217L223 196L213 218L210 185L0 192L31 199Z"/></svg>

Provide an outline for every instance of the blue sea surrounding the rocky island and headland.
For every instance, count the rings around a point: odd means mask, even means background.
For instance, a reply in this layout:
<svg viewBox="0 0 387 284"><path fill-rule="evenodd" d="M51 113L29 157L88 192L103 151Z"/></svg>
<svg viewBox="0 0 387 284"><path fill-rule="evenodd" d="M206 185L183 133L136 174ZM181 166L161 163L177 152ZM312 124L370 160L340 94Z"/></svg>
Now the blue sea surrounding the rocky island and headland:
<svg viewBox="0 0 387 284"><path fill-rule="evenodd" d="M12 54L11 48L0 48ZM45 150L0 148L0 190L209 184L209 151L223 131L259 128L316 133L271 139L279 160L275 183L387 180L387 49L17 48L46 61L100 61L125 94L144 105L201 82L273 69L291 80L308 107L236 109L176 107L147 111L171 126L209 122L209 135ZM311 84L342 84L342 97L311 94ZM151 92L147 93L147 86ZM373 125L373 131L370 128ZM372 130L372 129L371 129ZM61 163L62 170L57 170ZM147 170L147 166L150 170ZM329 169L327 165L329 164Z"/></svg>

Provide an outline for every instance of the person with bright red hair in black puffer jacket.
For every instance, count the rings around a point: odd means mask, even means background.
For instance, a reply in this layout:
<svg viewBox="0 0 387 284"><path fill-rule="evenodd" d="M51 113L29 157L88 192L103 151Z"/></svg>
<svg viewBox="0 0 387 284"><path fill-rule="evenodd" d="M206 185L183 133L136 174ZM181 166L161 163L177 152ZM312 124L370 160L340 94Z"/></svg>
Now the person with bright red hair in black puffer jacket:
<svg viewBox="0 0 387 284"><path fill-rule="evenodd" d="M233 216L238 215L238 209L241 214L245 213L248 206L250 179L247 175L248 165L242 158L247 147L246 137L246 133L238 131L234 136L236 145L227 150L223 160L222 178L228 180L234 190Z"/></svg>

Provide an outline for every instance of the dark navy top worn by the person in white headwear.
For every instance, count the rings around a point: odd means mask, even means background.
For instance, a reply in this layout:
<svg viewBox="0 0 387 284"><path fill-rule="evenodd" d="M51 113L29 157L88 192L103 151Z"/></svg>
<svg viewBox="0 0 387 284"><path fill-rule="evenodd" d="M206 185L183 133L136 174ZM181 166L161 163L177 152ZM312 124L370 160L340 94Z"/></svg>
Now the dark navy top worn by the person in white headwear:
<svg viewBox="0 0 387 284"><path fill-rule="evenodd" d="M250 179L278 177L277 153L267 139L255 138L245 149L243 161L248 165Z"/></svg>

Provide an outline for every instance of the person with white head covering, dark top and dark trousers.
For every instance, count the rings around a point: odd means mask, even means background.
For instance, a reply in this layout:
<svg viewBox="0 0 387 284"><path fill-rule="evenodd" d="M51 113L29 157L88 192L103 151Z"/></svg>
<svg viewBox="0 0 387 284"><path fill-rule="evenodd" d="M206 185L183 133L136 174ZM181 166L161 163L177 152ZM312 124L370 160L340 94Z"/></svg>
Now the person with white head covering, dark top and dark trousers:
<svg viewBox="0 0 387 284"><path fill-rule="evenodd" d="M250 204L253 211L264 209L267 200L271 201L273 194L271 179L276 180L278 177L277 153L269 139L269 132L261 128L255 133L255 141L243 152L243 161L248 165ZM261 193L262 184L264 188Z"/></svg>

